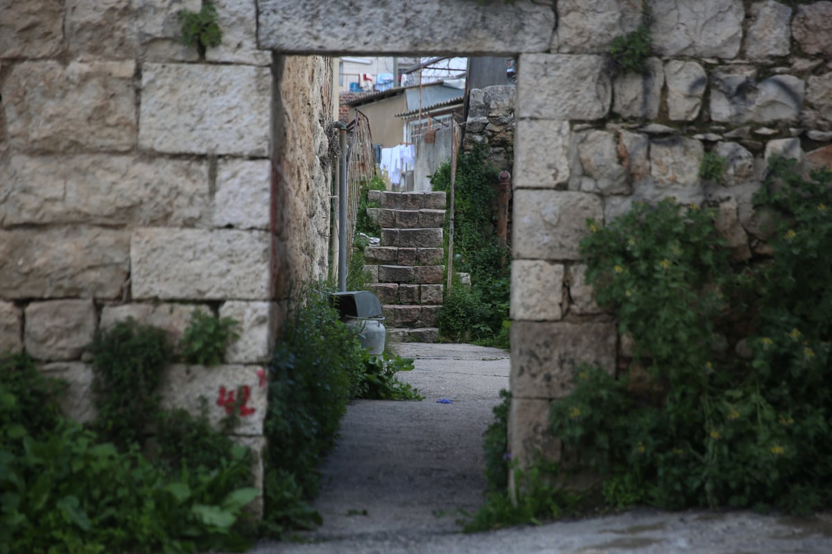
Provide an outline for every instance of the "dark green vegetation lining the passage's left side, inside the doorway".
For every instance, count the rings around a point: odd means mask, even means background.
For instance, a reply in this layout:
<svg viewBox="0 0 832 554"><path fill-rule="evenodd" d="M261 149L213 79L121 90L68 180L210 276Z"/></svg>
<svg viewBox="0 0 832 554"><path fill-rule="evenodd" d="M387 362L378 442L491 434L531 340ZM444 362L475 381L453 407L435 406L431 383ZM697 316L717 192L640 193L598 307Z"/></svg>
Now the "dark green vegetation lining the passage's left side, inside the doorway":
<svg viewBox="0 0 832 554"><path fill-rule="evenodd" d="M263 527L273 536L319 525L308 502L318 492L318 466L334 446L349 399L420 398L395 378L413 369L412 360L370 357L354 329L339 321L330 292L311 284L299 295L303 301L290 310L269 365Z"/></svg>

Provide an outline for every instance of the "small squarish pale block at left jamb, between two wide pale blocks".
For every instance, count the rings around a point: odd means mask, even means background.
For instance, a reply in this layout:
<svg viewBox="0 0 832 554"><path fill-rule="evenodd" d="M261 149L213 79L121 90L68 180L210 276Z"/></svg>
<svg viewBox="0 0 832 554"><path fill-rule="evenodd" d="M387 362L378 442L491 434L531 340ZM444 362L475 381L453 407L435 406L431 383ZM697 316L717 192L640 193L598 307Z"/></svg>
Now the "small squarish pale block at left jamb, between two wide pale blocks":
<svg viewBox="0 0 832 554"><path fill-rule="evenodd" d="M270 194L270 161L220 160L214 195L214 225L269 229Z"/></svg>

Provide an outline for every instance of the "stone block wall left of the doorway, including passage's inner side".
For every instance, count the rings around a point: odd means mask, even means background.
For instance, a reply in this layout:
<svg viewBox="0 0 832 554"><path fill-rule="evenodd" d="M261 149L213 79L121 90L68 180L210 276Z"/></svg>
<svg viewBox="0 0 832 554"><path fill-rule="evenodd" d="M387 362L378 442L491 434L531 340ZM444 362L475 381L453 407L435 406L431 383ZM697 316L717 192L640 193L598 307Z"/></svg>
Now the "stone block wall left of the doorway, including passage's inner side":
<svg viewBox="0 0 832 554"><path fill-rule="evenodd" d="M325 271L329 66L280 60L300 81L278 89L255 0L215 5L223 42L201 60L178 42L177 17L201 0L4 2L0 350L25 349L66 378L67 411L87 421L83 348L97 329L132 316L176 339L193 309L233 317L225 365L174 366L162 395L195 409L205 395L218 419L218 388L248 385L255 412L237 433L257 446L278 278ZM275 97L291 117L272 130ZM290 142L273 141L278 131ZM270 157L285 144L295 151L272 195Z"/></svg>

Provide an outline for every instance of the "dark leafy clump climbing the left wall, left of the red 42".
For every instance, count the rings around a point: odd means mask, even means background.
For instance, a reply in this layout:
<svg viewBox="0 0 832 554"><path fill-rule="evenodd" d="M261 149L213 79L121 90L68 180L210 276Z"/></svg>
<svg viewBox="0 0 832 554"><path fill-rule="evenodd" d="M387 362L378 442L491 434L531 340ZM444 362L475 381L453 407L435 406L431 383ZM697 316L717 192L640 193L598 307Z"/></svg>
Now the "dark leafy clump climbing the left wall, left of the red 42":
<svg viewBox="0 0 832 554"><path fill-rule="evenodd" d="M166 332L129 318L99 331L88 350L95 375L95 428L122 450L141 443L159 410L157 388L171 359Z"/></svg>

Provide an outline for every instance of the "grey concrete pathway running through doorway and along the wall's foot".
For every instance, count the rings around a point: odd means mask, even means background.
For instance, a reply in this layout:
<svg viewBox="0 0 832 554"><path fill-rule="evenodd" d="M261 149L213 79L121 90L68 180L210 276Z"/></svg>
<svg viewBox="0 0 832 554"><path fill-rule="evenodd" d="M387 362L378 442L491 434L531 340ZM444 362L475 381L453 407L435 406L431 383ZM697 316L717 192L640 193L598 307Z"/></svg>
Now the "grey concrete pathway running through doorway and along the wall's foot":
<svg viewBox="0 0 832 554"><path fill-rule="evenodd" d="M322 468L314 507L324 525L305 542L261 542L250 554L832 554L832 515L639 509L463 535L455 520L482 502L482 434L508 388L508 354L468 344L400 344L399 353L416 359L400 375L425 399L352 403Z"/></svg>

